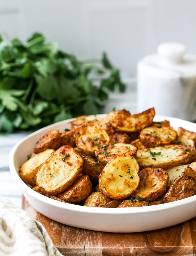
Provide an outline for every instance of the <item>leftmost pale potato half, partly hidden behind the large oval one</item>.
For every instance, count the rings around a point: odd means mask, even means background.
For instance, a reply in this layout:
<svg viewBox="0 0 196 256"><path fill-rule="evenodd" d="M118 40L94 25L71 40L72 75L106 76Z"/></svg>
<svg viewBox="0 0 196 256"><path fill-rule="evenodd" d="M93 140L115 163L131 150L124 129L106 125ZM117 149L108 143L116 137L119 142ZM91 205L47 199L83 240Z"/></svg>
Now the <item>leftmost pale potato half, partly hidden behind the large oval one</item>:
<svg viewBox="0 0 196 256"><path fill-rule="evenodd" d="M53 153L53 149L46 149L27 160L19 169L21 179L29 185L35 185L35 176L37 171L45 160L47 160Z"/></svg>

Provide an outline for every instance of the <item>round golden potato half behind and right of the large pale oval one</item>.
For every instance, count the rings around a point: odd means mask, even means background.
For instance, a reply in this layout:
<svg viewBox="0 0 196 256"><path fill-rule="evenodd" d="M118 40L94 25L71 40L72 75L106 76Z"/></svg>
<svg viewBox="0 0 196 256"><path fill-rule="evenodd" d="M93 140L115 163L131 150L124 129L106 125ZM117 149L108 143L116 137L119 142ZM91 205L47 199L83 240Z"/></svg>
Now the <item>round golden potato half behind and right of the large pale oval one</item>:
<svg viewBox="0 0 196 256"><path fill-rule="evenodd" d="M95 155L95 150L109 143L109 135L97 122L88 122L76 129L76 145L87 155Z"/></svg>

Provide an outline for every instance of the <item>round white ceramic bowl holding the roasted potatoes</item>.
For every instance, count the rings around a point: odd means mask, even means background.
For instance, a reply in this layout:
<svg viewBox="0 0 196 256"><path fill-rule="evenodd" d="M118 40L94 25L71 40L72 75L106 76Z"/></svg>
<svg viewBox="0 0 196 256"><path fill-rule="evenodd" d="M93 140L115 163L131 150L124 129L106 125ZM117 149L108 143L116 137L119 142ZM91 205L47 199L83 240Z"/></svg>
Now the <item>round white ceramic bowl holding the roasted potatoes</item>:
<svg viewBox="0 0 196 256"><path fill-rule="evenodd" d="M103 117L104 115L100 115ZM169 120L174 129L179 126L196 132L196 124L177 118L156 116L155 121ZM45 197L28 187L19 177L19 167L31 154L36 141L51 129L70 128L69 119L52 124L27 136L10 152L12 176L21 187L27 201L38 212L69 226L106 232L142 232L169 227L196 216L196 195L162 205L132 208L96 208L72 205Z"/></svg>

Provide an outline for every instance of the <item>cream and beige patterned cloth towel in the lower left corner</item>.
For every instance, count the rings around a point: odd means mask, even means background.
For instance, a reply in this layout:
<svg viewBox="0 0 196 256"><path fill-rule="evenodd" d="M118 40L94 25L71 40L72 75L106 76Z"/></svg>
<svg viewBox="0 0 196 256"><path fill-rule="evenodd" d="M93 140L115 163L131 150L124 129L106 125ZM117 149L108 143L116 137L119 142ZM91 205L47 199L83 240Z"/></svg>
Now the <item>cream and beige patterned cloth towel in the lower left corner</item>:
<svg viewBox="0 0 196 256"><path fill-rule="evenodd" d="M61 256L44 226L0 197L0 256Z"/></svg>

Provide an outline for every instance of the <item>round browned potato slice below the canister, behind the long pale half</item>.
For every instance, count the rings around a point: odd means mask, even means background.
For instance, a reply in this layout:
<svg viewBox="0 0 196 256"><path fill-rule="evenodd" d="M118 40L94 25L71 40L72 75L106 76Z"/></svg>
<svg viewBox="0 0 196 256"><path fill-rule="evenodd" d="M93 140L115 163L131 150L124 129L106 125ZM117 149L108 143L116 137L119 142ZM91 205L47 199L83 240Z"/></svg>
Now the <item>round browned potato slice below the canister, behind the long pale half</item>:
<svg viewBox="0 0 196 256"><path fill-rule="evenodd" d="M169 145L177 138L176 131L171 126L153 124L141 130L140 140L146 148Z"/></svg>

